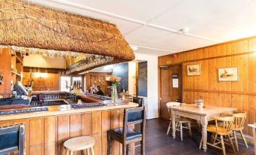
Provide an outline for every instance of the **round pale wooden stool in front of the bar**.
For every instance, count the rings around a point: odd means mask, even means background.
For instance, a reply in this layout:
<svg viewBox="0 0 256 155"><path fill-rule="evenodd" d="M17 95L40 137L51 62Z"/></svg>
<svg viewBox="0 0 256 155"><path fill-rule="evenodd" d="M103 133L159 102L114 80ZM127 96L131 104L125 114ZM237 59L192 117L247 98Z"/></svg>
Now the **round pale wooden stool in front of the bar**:
<svg viewBox="0 0 256 155"><path fill-rule="evenodd" d="M71 138L64 142L64 147L66 149L66 155L70 152L70 155L74 151L78 150L86 150L87 154L89 154L91 150L91 154L94 155L94 144L95 139L90 136L81 136L76 138Z"/></svg>

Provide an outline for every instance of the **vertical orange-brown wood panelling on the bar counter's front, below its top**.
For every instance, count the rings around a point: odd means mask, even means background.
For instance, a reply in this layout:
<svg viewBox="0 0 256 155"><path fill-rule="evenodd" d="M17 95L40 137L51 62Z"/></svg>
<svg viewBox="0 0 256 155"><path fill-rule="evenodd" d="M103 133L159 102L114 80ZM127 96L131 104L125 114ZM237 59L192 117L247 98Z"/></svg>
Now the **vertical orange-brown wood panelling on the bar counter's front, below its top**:
<svg viewBox="0 0 256 155"><path fill-rule="evenodd" d="M63 142L69 138L90 135L95 138L95 155L107 154L107 130L122 127L124 109L94 111L51 117L0 122L0 126L25 124L27 155L64 155ZM132 146L134 150L134 146ZM14 154L17 154L14 153ZM86 154L76 152L75 155ZM113 142L112 154L122 154L122 146ZM134 152L132 152L134 154Z"/></svg>

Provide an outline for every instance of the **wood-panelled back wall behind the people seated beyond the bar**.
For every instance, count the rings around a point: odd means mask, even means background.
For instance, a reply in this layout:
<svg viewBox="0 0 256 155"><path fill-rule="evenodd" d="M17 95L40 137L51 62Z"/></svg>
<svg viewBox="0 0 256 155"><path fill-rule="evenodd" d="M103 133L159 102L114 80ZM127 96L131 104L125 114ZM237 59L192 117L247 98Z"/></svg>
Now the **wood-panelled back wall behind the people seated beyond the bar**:
<svg viewBox="0 0 256 155"><path fill-rule="evenodd" d="M100 85L103 93L106 93L106 87L111 84L106 81L106 75L112 75L112 73L103 72L89 72L85 73L85 88L89 90L92 84Z"/></svg>

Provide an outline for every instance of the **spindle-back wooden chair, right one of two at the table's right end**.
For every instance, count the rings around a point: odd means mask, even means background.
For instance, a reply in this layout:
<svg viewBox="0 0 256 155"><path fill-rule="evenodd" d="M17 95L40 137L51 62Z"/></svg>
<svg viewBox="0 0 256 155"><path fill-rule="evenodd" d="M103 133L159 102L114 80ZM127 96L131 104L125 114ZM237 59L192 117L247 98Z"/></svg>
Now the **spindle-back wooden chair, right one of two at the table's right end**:
<svg viewBox="0 0 256 155"><path fill-rule="evenodd" d="M242 130L244 129L244 125L245 125L245 119L247 117L247 113L246 112L241 112L241 113L234 113L232 114L233 117L235 117L233 126L232 126L232 130L233 130L233 138L235 139L235 143L236 143L236 150L239 151L239 147L238 147L238 142L237 142L237 138L236 138L236 132L240 132L241 136L242 136L242 140L245 143L245 146L248 147L247 141L245 139L245 135L242 133Z"/></svg>

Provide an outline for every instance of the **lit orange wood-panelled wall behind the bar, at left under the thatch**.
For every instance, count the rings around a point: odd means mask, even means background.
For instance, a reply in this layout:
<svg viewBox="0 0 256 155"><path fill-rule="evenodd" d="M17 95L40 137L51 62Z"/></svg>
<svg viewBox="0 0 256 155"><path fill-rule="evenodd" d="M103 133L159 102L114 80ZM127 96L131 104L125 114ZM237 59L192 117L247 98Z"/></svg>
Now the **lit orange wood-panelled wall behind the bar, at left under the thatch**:
<svg viewBox="0 0 256 155"><path fill-rule="evenodd" d="M30 84L30 74L29 72L23 73L23 85ZM48 73L47 78L35 78L34 80L34 91L43 91L43 90L60 90L60 74Z"/></svg>

